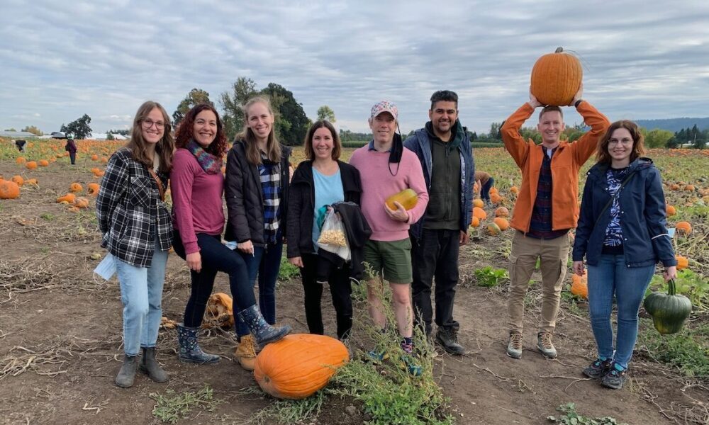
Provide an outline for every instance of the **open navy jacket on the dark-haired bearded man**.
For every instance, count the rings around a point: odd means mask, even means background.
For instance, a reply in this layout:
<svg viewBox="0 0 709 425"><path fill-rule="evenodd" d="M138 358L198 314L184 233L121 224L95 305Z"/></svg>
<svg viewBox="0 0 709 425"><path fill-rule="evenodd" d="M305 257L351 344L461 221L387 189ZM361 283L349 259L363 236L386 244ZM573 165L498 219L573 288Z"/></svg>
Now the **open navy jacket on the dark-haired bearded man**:
<svg viewBox="0 0 709 425"><path fill-rule="evenodd" d="M456 122L457 130L462 132L463 140L458 145L458 153L460 156L460 230L468 231L468 226L472 220L473 208L473 178L475 176L475 162L473 153L470 147L470 137L465 131L465 128L460 125L460 121ZM406 137L403 145L416 154L423 168L423 178L426 181L426 188L431 190L431 141L428 131L425 128L416 130L413 135ZM425 217L425 216L424 216ZM411 225L408 232L412 237L418 239L423 234L423 222L425 218L421 218L415 224Z"/></svg>

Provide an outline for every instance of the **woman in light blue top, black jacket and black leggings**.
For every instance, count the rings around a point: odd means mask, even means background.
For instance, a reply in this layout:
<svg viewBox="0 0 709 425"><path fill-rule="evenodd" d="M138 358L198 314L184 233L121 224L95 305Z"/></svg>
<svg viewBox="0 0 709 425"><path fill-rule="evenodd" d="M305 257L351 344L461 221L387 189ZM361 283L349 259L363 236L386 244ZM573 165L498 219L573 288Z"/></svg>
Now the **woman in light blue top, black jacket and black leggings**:
<svg viewBox="0 0 709 425"><path fill-rule="evenodd" d="M323 285L316 281L320 227L325 205L340 201L359 204L362 184L359 171L340 162L342 143L328 121L311 125L305 140L307 161L293 174L288 203L288 261L301 268L305 293L306 320L311 334L324 333L320 298ZM337 337L345 339L352 329L352 285L350 266L333 268L328 276L337 314Z"/></svg>

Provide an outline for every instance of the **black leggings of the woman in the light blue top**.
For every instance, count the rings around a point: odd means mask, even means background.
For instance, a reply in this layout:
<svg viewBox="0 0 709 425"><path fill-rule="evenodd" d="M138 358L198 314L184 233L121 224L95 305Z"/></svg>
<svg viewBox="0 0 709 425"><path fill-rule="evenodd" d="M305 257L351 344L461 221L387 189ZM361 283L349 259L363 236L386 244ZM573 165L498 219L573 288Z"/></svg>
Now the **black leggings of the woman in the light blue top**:
<svg viewBox="0 0 709 425"><path fill-rule="evenodd" d="M303 292L305 293L306 322L308 331L311 334L322 335L325 333L323 327L323 311L320 307L320 300L323 297L323 284L316 281L316 271L318 268L317 254L303 254L303 268L301 268L301 278L303 280ZM343 266L340 269L333 268L328 277L330 294L333 295L333 306L337 319L337 338L345 339L350 335L352 329L352 284L350 283L350 266Z"/></svg>

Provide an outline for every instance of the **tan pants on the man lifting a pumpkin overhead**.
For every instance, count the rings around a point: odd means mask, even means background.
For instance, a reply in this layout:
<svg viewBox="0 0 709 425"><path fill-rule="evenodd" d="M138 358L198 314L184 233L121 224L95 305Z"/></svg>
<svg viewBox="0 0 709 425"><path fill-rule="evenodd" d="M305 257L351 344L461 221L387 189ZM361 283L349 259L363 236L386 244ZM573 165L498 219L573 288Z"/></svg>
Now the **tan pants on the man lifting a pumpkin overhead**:
<svg viewBox="0 0 709 425"><path fill-rule="evenodd" d="M518 230L512 239L510 253L510 291L507 298L510 333L522 333L525 294L537 258L540 259L542 272L542 317L539 331L554 333L559 313L559 297L566 276L566 261L569 259L569 238L564 235L554 239L535 239L525 237Z"/></svg>

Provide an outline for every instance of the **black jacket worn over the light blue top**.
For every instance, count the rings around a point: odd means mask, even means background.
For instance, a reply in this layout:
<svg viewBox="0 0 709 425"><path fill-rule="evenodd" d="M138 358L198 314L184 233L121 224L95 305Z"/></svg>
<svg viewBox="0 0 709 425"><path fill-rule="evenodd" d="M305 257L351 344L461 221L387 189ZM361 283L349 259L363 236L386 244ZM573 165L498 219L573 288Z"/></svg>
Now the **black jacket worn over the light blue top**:
<svg viewBox="0 0 709 425"><path fill-rule="evenodd" d="M359 171L350 164L337 161L340 165L342 189L345 201L360 205L362 182ZM292 259L302 254L313 254L313 217L315 215L315 183L313 183L313 162L303 161L293 174L288 200L287 256Z"/></svg>

